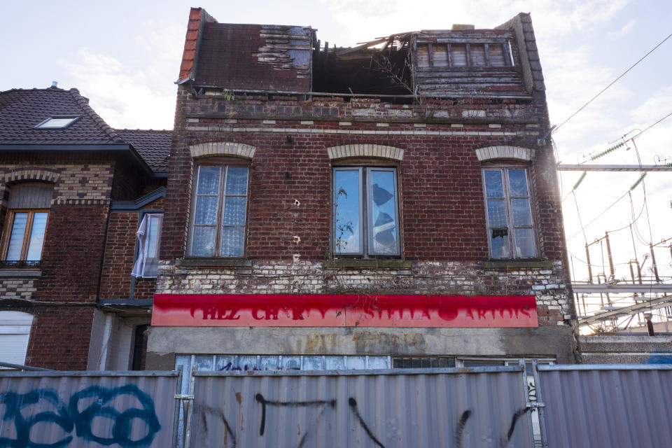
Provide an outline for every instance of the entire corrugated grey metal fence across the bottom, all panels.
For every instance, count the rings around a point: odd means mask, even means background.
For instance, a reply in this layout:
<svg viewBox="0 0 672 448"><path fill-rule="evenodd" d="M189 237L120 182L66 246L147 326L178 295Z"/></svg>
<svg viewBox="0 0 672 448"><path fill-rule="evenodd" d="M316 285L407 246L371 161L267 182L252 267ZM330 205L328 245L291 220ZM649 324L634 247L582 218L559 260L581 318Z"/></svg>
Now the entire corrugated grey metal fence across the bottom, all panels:
<svg viewBox="0 0 672 448"><path fill-rule="evenodd" d="M0 447L670 445L672 366L535 367L1 372Z"/></svg>

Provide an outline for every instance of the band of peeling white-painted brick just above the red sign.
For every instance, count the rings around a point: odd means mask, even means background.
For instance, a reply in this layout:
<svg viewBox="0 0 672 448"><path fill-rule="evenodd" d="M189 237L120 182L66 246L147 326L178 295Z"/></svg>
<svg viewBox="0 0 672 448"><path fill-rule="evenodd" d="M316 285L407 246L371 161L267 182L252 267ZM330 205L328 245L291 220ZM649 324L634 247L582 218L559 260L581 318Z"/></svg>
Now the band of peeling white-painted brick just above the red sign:
<svg viewBox="0 0 672 448"><path fill-rule="evenodd" d="M318 261L260 260L251 269L190 268L162 261L158 294L534 295L539 325L568 325L572 302L561 262L542 268L485 269L477 262L412 262L408 267L330 267Z"/></svg>

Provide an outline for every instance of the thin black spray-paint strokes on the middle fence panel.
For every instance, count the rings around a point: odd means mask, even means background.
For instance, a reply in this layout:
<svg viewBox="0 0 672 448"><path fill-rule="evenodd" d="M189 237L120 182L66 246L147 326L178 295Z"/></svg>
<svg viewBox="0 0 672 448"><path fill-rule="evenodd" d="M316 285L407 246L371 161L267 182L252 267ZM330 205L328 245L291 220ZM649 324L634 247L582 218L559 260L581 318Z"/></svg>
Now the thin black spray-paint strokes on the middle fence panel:
<svg viewBox="0 0 672 448"><path fill-rule="evenodd" d="M261 413L260 413L260 427L259 427L259 437L263 437L266 431L266 422L267 422L267 412L269 412L268 408L269 407L277 407L278 409L283 409L286 407L305 407L308 409L315 409L316 412L312 416L312 421L311 424L309 425L308 428L305 428L300 439L298 440L297 448L303 448L307 446L307 440L309 435L311 435L314 431L312 431L316 426L318 426L319 423L321 423L321 420L324 417L325 411L327 409L332 409L335 410L337 408L337 400L332 399L332 400L311 400L311 401L276 401L276 400L267 400L261 393L257 393L254 397L255 401L258 402L261 405ZM240 393L236 393L236 400L241 403L240 400ZM350 412L352 412L354 416L354 422L360 426L366 433L367 437L369 437L369 440L374 444L376 447L379 448L385 448L385 445L383 442L379 440L379 438L375 435L376 431L375 428L370 428L370 426L366 423L365 419L363 416L360 414L358 405L357 405L357 400L353 397L350 397L348 399L348 406L350 409ZM514 430L516 428L516 424L521 418L521 416L524 416L527 412L531 410L530 407L523 407L521 409L517 409L511 417L511 423L508 428L508 431L505 435L505 437L500 437L499 440L499 445L505 447L507 446L507 443L510 442L512 435L514 433ZM200 425L200 430L202 430L202 433L207 433L208 432L208 423L207 423L207 415L211 415L216 417L217 419L220 419L225 426L225 440L223 446L225 447L232 447L236 448L237 444L237 437L235 434L234 428L231 426L229 421L226 419L226 416L224 415L224 412L222 409L215 409L213 407L209 407L206 405L199 405L196 404L194 408L194 412L197 416L197 424ZM465 437L465 428L467 426L468 420L472 416L473 411L472 409L468 409L464 411L461 415L460 418L457 421L456 429L455 429L455 435L454 435L454 447L456 448L461 448L463 446L463 440ZM241 430L244 430L244 428L241 426ZM196 432L200 432L196 431Z"/></svg>

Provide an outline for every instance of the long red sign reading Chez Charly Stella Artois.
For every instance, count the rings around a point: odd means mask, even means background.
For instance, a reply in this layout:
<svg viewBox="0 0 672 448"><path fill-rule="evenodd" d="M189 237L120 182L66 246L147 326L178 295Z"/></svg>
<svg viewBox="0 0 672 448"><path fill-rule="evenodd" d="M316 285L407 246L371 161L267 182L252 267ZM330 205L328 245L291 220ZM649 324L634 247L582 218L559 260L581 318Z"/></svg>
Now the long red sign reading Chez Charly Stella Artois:
<svg viewBox="0 0 672 448"><path fill-rule="evenodd" d="M156 294L152 325L537 327L533 295Z"/></svg>

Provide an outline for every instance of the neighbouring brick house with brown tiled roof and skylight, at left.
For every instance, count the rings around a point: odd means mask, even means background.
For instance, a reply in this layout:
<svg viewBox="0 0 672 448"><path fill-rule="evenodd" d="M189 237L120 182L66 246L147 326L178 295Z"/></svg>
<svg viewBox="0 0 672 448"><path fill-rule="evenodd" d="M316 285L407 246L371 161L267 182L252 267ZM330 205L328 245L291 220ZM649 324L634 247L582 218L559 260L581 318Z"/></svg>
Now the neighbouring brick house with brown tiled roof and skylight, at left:
<svg viewBox="0 0 672 448"><path fill-rule="evenodd" d="M136 233L154 217L138 274L155 276L171 138L111 129L76 89L0 92L0 361L141 367L154 279L132 276Z"/></svg>

